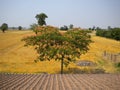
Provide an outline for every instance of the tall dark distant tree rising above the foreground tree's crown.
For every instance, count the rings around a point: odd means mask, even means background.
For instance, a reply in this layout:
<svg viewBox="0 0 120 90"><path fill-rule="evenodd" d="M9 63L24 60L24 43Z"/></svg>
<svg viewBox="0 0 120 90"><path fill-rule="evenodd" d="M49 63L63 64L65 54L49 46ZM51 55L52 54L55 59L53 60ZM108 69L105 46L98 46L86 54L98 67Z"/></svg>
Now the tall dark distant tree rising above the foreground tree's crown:
<svg viewBox="0 0 120 90"><path fill-rule="evenodd" d="M38 20L38 24L40 26L46 25L45 19L48 18L48 16L45 13L40 13L35 16L35 18Z"/></svg>

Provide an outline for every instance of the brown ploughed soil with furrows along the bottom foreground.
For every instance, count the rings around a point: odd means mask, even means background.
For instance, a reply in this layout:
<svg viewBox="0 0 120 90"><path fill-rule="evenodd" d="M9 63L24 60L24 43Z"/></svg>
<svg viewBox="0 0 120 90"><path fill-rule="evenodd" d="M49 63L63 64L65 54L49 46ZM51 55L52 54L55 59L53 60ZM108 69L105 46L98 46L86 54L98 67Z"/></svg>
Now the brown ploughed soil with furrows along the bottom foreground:
<svg viewBox="0 0 120 90"><path fill-rule="evenodd" d="M0 74L0 90L120 90L120 74Z"/></svg>

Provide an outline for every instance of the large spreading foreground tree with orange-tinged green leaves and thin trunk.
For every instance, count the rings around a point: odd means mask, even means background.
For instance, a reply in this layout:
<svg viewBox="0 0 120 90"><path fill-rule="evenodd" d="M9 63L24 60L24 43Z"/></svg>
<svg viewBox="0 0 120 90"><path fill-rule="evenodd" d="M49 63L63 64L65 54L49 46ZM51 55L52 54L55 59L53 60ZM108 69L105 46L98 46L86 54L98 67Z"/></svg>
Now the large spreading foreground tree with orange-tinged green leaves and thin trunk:
<svg viewBox="0 0 120 90"><path fill-rule="evenodd" d="M35 46L39 55L35 62L60 60L61 74L63 74L64 65L68 66L70 62L74 62L89 50L91 39L86 31L70 30L62 34L59 29L51 26L40 26L37 30L37 35L23 39L27 46Z"/></svg>

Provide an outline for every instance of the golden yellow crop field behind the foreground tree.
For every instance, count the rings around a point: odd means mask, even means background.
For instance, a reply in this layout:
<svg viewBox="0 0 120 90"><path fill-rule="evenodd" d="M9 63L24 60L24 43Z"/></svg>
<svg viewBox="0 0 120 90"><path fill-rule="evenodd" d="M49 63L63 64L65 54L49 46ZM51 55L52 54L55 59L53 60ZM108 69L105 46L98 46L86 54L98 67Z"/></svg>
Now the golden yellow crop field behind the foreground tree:
<svg viewBox="0 0 120 90"><path fill-rule="evenodd" d="M59 73L59 61L43 61L35 63L37 53L33 47L24 47L23 37L33 34L32 31L0 31L0 72L10 73ZM110 53L120 53L120 42L97 37L92 35L93 43L90 44L90 50L85 55L82 55L79 60L90 60L93 62L103 60L102 54L104 51ZM110 61L106 61L106 66L102 67L106 72L115 72L116 69ZM80 68L75 64L70 64L68 68ZM88 67L86 67L88 68ZM64 68L66 71L67 68Z"/></svg>

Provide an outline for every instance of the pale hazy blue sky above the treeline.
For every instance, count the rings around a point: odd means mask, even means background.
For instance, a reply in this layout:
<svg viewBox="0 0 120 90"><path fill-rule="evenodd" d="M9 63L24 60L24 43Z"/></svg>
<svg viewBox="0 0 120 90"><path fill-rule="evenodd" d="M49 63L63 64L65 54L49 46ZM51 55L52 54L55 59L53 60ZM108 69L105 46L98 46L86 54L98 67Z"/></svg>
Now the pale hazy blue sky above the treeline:
<svg viewBox="0 0 120 90"><path fill-rule="evenodd" d="M0 25L28 28L40 13L56 27L120 27L120 0L0 0Z"/></svg>

